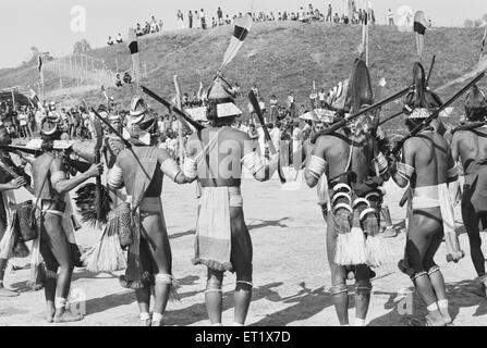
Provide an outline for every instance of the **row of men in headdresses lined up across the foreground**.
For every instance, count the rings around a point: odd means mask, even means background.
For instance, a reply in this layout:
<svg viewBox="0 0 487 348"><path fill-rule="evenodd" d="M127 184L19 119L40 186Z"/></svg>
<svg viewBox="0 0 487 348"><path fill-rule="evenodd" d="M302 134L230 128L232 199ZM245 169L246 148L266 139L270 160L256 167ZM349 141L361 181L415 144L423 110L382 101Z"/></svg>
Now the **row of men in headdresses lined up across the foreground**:
<svg viewBox="0 0 487 348"><path fill-rule="evenodd" d="M411 192L401 271L411 277L427 308L426 324L442 326L452 322L445 279L435 263L435 254L446 228L454 226L451 192L456 190L451 188L458 185L459 160L465 174L461 200L463 222L482 291L486 295L487 275L479 231L487 209L487 101L474 86L465 99L465 123L447 132L439 117L431 120L442 101L426 85L419 63L414 65L413 77L413 86L404 94L403 102L407 115L405 124L412 133L399 149L392 149L387 134L378 126L380 108L370 108L375 104L374 95L362 58L354 61L351 76L341 84L340 91L333 89L328 96L327 104L333 113L329 125L344 120L343 126L317 134L303 148L305 181L309 187L318 186L327 225L330 295L341 325L350 323L348 279L355 281L352 324L366 323L373 269L383 264L387 258L380 236L380 211L385 195L382 185L389 179L400 187L409 187ZM127 240L122 235L117 239L126 248L126 260L121 261L126 261L125 274L120 282L135 290L141 324L163 325L167 303L171 295L176 294L161 203L165 176L180 185L197 182L198 219L193 263L208 270L205 302L211 325L222 325L226 272L236 275L234 325L245 324L252 301L253 248L241 195L243 167L255 179L268 181L279 169L280 153L255 152L249 136L232 127L242 112L234 103L231 85L221 73L214 79L207 98L205 127L196 129L187 141L182 166L158 147L157 120L138 95L132 100L125 128L120 117L106 115L110 127L102 136L105 165L96 161L94 153L86 153L86 149L90 149L86 146L89 141L68 145L77 159L94 163L77 175L66 158L65 146L63 148L58 141L61 135L58 120L44 117L39 151L34 156L22 154L22 158L32 166L35 197L32 211L36 216L37 234L33 238L32 253L37 252L44 259L42 265L40 256L32 258L33 283L44 286L48 322L83 319L66 307L73 269L86 261L75 247L73 225L70 225L73 220L66 219L72 213L66 194L108 170L107 186L112 202L109 220L114 229L131 231ZM351 117L356 114L360 116ZM0 145L10 142L8 132L0 126ZM2 161L4 159L11 163L9 153L3 151ZM7 259L12 256L9 249L14 249L19 239L11 238L10 244L4 240L12 229L10 225L14 224L8 213L11 207L8 196L29 184L22 176L14 178L4 171L0 174L3 198L0 295L15 295L2 287ZM15 212L11 210L11 214ZM108 252L109 249L104 250ZM102 258L97 257L98 260ZM44 266L46 270L41 272Z"/></svg>

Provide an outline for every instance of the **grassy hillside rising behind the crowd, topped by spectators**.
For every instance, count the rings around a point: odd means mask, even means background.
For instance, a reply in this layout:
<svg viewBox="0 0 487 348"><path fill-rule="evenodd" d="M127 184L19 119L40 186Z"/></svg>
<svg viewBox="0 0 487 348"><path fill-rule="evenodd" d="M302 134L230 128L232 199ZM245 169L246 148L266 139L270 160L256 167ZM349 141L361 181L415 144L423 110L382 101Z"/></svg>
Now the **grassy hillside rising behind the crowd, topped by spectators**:
<svg viewBox="0 0 487 348"><path fill-rule="evenodd" d="M202 80L207 87L218 71L233 28L219 27L211 30L185 29L168 32L139 40L141 61L147 64L148 87L170 99L174 95L173 75L180 76L183 92L197 91ZM299 104L308 105L313 80L317 88L332 88L339 80L349 77L357 45L361 26L334 26L325 23L301 24L295 22L255 24L234 61L224 70L230 80L239 82L245 92L257 84L266 99L272 94L283 102L289 91L294 91ZM433 88L465 75L477 65L483 29L434 28L426 33L424 65L429 67L431 57L437 54L431 76ZM387 91L393 94L411 83L412 66L416 61L413 33L401 33L395 27L370 28L370 75L374 86L386 77ZM129 70L131 58L126 45L106 47L87 52L105 60L106 66L115 71ZM483 63L487 63L486 60ZM63 85L69 86L70 76ZM37 82L34 67L0 71L0 88L26 86ZM452 96L462 84L452 84L440 91L443 99ZM487 79L480 84L487 87ZM108 87L108 86L106 86ZM46 75L46 89L59 88L59 76ZM99 89L81 90L81 95L57 97L58 99L86 98L88 102L104 102ZM129 104L131 87L110 88L109 95ZM59 92L58 92L59 96ZM155 104L155 102L153 102ZM239 104L246 111L247 100ZM387 111L399 110L392 104ZM461 109L459 109L461 111ZM162 111L162 110L161 110ZM401 120L389 127L400 127Z"/></svg>

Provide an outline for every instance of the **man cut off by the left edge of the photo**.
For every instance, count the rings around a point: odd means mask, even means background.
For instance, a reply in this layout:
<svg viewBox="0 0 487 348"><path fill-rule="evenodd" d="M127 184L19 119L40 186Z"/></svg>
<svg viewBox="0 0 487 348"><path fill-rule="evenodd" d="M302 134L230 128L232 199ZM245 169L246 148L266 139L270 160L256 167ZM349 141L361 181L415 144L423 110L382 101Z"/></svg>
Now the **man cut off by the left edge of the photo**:
<svg viewBox="0 0 487 348"><path fill-rule="evenodd" d="M10 145L12 142L9 133L3 124L0 125L0 144L1 145ZM0 161L3 165L10 166L13 164L10 156L8 153L0 153ZM17 293L11 291L4 288L3 286L3 276L5 274L5 268L8 263L8 259L12 251L12 247L14 247L15 241L17 240L3 240L3 238L9 238L8 227L10 227L12 223L12 214L10 212L9 203L14 203L14 197L12 195L12 190L19 189L22 186L27 184L27 181L23 176L19 176L17 178L12 178L3 170L0 170L0 297L14 297L19 296ZM12 238L12 236L10 236ZM14 238L15 239L15 238ZM4 252L2 249L5 249ZM3 256L4 253L4 256Z"/></svg>

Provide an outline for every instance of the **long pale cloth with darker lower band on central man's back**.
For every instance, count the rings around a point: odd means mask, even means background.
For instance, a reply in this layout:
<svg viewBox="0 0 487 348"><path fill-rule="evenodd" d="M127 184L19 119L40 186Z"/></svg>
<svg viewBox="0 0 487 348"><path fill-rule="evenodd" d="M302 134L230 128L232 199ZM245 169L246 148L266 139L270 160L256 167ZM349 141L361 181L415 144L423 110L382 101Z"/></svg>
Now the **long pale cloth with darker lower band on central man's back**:
<svg viewBox="0 0 487 348"><path fill-rule="evenodd" d="M193 264L216 271L233 271L230 208L242 208L240 187L204 187L196 224Z"/></svg>

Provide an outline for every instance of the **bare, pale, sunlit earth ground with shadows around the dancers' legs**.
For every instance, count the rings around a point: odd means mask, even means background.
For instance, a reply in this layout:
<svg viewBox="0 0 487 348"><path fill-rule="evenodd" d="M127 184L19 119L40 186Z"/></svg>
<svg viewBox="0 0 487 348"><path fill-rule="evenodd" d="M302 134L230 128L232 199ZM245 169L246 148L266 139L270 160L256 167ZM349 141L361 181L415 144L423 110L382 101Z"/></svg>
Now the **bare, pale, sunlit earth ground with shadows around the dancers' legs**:
<svg viewBox="0 0 487 348"><path fill-rule="evenodd" d="M181 302L171 302L166 314L167 325L208 325L204 302L206 271L191 263L196 220L195 186L178 187L166 181L162 194L165 215L171 238L173 274L181 287ZM388 185L386 198L394 223L401 223L405 210L398 207L402 190ZM282 190L277 179L260 184L251 179L243 183L246 222L254 243L254 295L247 319L248 325L308 325L334 326L338 320L328 293L330 272L327 264L325 223L316 201L316 191L308 188ZM25 197L23 197L25 199ZM19 198L21 201L21 197ZM447 281L454 325L487 325L487 299L473 293L476 274L470 259L466 234L456 221L465 257L460 263L446 261L446 246L440 247L436 261ZM84 227L76 233L82 249L94 245L99 233ZM483 234L484 245L487 245ZM367 324L373 326L418 325L425 311L411 281L395 266L402 258L405 233L387 239L393 254L392 262L376 270L374 294ZM484 251L487 250L484 247ZM133 291L119 285L117 274L90 274L76 269L72 295L86 295L86 316L74 325L138 325L138 311ZM28 269L5 275L8 286L22 294L16 298L0 298L0 325L48 325L44 320L44 290L25 288ZM232 290L234 275L224 283L223 323L233 322ZM353 287L350 284L352 294ZM403 294L413 295L403 295ZM413 298L412 314L401 315L398 304ZM353 296L350 296L350 316L354 318ZM73 299L75 302L76 299ZM404 301L402 301L404 303ZM405 306L399 306L404 307ZM402 311L404 313L404 311ZM52 325L52 324L50 324Z"/></svg>

